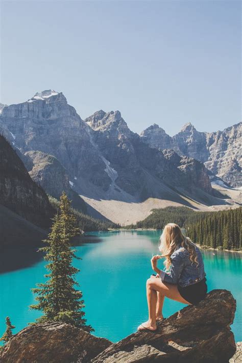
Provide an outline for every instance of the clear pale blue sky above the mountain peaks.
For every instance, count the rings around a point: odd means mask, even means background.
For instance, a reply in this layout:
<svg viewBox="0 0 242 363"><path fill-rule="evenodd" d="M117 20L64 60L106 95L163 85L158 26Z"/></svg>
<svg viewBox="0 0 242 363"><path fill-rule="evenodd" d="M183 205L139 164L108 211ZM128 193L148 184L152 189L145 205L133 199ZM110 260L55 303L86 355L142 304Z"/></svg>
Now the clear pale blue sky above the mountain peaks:
<svg viewBox="0 0 242 363"><path fill-rule="evenodd" d="M62 91L132 131L241 119L239 1L2 1L1 102Z"/></svg>

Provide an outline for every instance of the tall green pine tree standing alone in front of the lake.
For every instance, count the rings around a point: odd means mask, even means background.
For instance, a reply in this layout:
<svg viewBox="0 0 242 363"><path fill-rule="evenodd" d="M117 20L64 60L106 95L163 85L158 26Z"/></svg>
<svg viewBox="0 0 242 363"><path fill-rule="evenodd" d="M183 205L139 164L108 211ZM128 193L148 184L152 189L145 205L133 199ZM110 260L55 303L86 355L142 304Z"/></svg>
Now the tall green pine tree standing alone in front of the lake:
<svg viewBox="0 0 242 363"><path fill-rule="evenodd" d="M43 312L37 319L39 323L61 321L93 331L84 319L82 292L75 288L78 283L74 276L80 270L72 266L72 259L77 257L70 240L77 234L78 228L70 209L70 201L63 193L60 198L60 212L55 215L51 232L45 240L47 246L40 248L40 251L46 253L44 259L49 262L46 269L50 273L45 275L45 283L39 283L38 287L32 289L37 294L38 303L30 307Z"/></svg>

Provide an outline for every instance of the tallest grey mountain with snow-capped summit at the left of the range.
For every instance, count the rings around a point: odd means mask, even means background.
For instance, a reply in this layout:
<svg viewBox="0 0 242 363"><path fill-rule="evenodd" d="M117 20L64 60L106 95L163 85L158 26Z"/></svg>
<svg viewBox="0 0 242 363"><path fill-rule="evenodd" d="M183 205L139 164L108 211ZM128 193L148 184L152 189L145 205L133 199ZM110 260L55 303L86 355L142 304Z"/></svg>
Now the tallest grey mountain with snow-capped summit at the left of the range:
<svg viewBox="0 0 242 363"><path fill-rule="evenodd" d="M105 163L91 143L90 127L67 104L65 96L43 91L27 102L3 109L0 128L22 154L41 151L55 156L75 184L82 180L108 188Z"/></svg>

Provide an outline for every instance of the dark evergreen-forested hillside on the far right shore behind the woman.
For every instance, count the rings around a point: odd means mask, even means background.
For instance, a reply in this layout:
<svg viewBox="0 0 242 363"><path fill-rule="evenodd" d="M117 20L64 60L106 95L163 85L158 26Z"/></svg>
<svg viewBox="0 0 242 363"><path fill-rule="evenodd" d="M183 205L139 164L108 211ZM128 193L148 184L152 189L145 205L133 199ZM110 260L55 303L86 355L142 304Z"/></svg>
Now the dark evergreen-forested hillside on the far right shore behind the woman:
<svg viewBox="0 0 242 363"><path fill-rule="evenodd" d="M154 209L143 221L128 228L163 229L177 223L195 243L212 248L242 249L242 207L216 212L197 212L187 207Z"/></svg>

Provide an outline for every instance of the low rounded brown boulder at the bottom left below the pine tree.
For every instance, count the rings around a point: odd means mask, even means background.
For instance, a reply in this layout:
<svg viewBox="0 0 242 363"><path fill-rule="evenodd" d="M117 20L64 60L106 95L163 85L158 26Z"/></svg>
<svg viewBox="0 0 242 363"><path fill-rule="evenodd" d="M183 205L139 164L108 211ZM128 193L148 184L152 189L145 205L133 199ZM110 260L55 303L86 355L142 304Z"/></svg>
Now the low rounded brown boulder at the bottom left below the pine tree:
<svg viewBox="0 0 242 363"><path fill-rule="evenodd" d="M111 344L65 323L35 324L14 335L1 363L89 362Z"/></svg>

